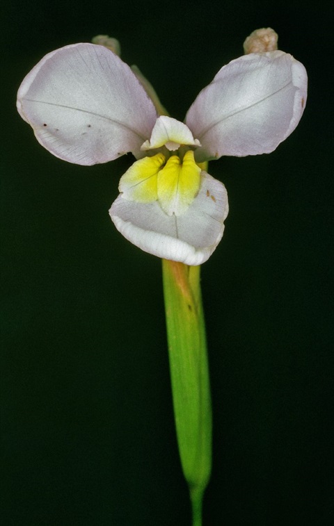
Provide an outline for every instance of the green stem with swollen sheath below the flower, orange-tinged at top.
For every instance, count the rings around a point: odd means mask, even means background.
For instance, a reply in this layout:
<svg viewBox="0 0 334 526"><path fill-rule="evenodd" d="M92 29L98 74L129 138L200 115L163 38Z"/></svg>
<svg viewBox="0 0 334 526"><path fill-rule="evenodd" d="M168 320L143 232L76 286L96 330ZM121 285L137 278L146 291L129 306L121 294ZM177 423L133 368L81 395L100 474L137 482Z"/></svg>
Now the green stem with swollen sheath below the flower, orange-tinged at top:
<svg viewBox="0 0 334 526"><path fill-rule="evenodd" d="M190 491L193 526L200 526L202 498L212 461L212 409L200 267L163 260L163 279L177 443Z"/></svg>

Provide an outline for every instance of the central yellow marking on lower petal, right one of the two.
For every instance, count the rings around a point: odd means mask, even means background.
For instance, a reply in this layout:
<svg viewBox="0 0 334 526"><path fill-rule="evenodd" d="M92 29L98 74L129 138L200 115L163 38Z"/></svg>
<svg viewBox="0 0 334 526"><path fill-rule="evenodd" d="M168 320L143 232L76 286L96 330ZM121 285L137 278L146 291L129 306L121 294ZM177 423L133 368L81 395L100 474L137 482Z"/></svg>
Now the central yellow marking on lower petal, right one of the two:
<svg viewBox="0 0 334 526"><path fill-rule="evenodd" d="M193 159L193 151L186 151L183 163L171 156L158 174L158 199L168 215L182 215L198 194L200 167Z"/></svg>

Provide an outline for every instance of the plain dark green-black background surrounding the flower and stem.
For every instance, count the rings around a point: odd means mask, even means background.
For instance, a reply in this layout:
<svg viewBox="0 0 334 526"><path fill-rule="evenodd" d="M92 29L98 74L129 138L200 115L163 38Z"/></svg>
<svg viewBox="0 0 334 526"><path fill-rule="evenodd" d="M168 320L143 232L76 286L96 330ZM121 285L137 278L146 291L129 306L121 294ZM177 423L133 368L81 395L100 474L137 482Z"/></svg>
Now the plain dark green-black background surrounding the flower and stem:
<svg viewBox="0 0 334 526"><path fill-rule="evenodd" d="M202 268L214 409L204 526L328 525L333 42L324 2L14 0L2 8L4 526L190 525L161 265L108 215L131 159L67 164L15 111L48 51L116 36L183 120L244 38L272 26L308 105L269 156L221 158L224 238Z"/></svg>

